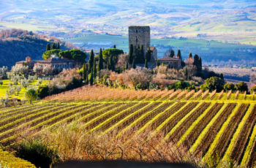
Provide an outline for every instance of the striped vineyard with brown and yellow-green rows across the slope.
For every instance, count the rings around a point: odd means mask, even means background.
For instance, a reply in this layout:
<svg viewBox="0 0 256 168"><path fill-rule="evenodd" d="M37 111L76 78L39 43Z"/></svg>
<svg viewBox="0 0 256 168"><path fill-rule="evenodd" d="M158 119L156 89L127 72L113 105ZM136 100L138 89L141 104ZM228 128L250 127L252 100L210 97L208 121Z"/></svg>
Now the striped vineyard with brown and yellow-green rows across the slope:
<svg viewBox="0 0 256 168"><path fill-rule="evenodd" d="M32 136L46 126L75 120L83 123L86 134L102 131L122 137L129 130L135 129L137 134L151 130L150 137L163 134L163 142L184 146L202 162L233 159L253 167L255 115L254 94L86 86L33 105L0 109L0 143L13 145L25 132Z"/></svg>

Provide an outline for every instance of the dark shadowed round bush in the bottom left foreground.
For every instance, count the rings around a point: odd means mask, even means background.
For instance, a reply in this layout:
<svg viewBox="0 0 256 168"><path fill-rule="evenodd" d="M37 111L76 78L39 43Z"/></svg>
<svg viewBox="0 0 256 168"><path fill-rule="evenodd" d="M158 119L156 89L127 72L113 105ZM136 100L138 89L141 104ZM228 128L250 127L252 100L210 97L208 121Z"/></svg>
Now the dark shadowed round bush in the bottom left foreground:
<svg viewBox="0 0 256 168"><path fill-rule="evenodd" d="M15 147L16 155L31 161L36 167L50 167L58 159L57 150L48 148L40 140L26 140Z"/></svg>

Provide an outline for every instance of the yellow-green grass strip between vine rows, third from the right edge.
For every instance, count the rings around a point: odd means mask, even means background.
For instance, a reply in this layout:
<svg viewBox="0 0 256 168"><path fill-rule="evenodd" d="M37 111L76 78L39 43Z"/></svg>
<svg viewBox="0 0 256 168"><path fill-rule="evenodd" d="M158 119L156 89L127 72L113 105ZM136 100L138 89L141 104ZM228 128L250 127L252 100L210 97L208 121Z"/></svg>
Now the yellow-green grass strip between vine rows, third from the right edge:
<svg viewBox="0 0 256 168"><path fill-rule="evenodd" d="M241 107L241 103L238 103L236 107L233 109L231 114L228 116L227 120L225 123L223 123L222 128L219 129L219 132L217 133L216 137L214 137L214 141L211 143L211 146L208 148L208 151L205 156L203 156L202 161L204 162L205 160L208 159L209 156L211 156L214 153L214 149L216 148L216 145L219 142L219 137L222 136L223 131L225 131L226 127L228 126L228 123L230 123L230 120L236 115L239 107ZM235 124L235 123L234 123Z"/></svg>

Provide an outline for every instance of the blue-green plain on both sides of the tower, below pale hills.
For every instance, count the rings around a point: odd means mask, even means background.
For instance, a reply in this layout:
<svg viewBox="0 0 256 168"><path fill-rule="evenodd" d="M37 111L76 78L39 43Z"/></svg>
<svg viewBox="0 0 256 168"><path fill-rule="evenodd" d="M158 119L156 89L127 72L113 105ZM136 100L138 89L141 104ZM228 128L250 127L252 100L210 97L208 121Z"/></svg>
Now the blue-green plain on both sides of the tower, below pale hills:
<svg viewBox="0 0 256 168"><path fill-rule="evenodd" d="M112 45L116 45L116 47L125 52L129 51L129 40L128 37L125 36L97 34L83 35L82 37L64 40L80 47L85 47L86 49L96 48L96 50L99 50L99 48L88 45L88 42L111 42ZM112 45L106 47L112 47ZM164 57L165 52L173 48L176 53L178 49L181 50L181 55L184 59L187 59L189 53L192 52L193 54L199 54L199 56L203 58L203 61L207 62L217 60L248 61L248 58L253 58L253 55L247 52L247 50L249 50L249 48L251 48L250 50L255 48L250 45L237 45L204 39L151 39L151 46L157 47L158 58Z"/></svg>

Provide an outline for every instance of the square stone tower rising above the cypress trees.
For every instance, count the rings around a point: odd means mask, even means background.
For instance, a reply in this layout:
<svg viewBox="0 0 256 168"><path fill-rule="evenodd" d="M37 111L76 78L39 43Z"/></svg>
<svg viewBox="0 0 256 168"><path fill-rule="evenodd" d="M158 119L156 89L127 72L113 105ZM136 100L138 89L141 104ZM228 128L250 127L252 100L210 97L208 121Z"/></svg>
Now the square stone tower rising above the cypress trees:
<svg viewBox="0 0 256 168"><path fill-rule="evenodd" d="M129 46L135 47L143 45L144 55L150 47L150 27L149 26L129 26Z"/></svg>

